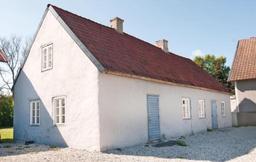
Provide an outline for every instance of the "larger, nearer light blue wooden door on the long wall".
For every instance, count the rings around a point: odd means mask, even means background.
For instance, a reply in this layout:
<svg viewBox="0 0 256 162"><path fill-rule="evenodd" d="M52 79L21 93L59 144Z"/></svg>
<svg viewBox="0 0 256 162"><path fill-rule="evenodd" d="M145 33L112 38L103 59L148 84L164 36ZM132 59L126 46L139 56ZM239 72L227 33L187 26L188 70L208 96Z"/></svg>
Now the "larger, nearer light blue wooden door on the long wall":
<svg viewBox="0 0 256 162"><path fill-rule="evenodd" d="M148 140L160 139L158 96L147 95Z"/></svg>

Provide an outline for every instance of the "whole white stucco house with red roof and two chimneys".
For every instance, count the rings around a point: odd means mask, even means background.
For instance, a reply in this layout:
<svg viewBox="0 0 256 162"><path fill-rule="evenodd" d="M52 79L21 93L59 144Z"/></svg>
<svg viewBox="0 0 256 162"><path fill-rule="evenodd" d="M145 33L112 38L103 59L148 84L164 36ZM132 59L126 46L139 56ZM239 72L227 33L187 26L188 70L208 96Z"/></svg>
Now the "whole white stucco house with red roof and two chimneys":
<svg viewBox="0 0 256 162"><path fill-rule="evenodd" d="M104 151L231 126L229 92L193 61L48 5L14 89L14 139Z"/></svg>

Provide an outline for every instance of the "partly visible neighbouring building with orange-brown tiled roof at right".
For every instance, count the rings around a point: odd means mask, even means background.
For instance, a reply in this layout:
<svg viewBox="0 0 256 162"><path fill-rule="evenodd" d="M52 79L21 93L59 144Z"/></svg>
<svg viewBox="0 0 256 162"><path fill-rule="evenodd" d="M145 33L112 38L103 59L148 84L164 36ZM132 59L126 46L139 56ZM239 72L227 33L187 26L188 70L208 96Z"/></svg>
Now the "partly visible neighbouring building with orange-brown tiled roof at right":
<svg viewBox="0 0 256 162"><path fill-rule="evenodd" d="M236 90L233 125L256 126L256 37L238 41L228 80Z"/></svg>

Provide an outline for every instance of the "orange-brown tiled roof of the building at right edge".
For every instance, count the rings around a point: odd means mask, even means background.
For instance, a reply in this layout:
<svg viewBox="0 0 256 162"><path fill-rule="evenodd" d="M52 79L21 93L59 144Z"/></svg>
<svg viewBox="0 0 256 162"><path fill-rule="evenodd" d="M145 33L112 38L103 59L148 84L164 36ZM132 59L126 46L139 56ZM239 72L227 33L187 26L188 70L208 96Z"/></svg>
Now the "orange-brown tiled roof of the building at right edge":
<svg viewBox="0 0 256 162"><path fill-rule="evenodd" d="M229 81L256 78L256 37L238 42Z"/></svg>

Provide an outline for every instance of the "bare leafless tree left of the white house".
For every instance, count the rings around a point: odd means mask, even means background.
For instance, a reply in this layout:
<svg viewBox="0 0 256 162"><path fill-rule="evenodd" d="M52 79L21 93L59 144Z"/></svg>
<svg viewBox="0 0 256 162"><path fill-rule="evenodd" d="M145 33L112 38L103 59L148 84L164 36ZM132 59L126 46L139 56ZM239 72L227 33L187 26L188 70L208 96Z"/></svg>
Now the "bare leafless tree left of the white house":
<svg viewBox="0 0 256 162"><path fill-rule="evenodd" d="M31 41L31 37L23 41L22 37L16 35L0 38L0 48L9 60L8 63L0 64L0 94L11 94L12 85L23 64Z"/></svg>

